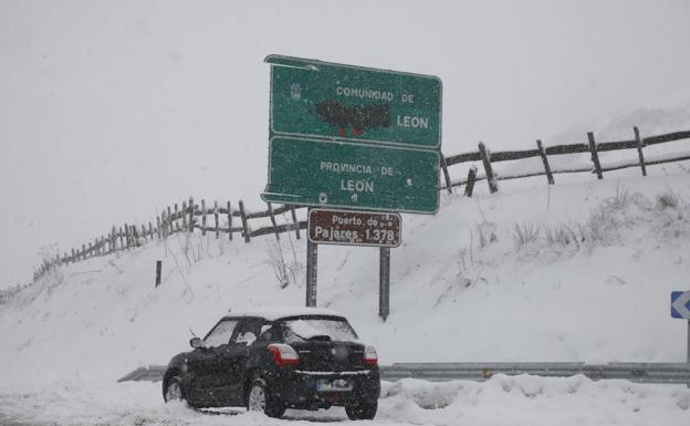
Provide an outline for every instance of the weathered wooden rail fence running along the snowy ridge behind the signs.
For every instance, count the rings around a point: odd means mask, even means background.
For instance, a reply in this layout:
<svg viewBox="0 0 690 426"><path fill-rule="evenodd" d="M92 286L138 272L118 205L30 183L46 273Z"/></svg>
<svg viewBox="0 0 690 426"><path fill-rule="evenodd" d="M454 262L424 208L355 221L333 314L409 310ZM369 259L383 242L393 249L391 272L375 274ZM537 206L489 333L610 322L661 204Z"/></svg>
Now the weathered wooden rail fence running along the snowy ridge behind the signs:
<svg viewBox="0 0 690 426"><path fill-rule="evenodd" d="M445 185L441 185L441 190L446 189L449 193L452 193L453 187L466 185L464 195L471 197L474 183L477 180L488 180L489 189L493 194L499 190L498 180L546 175L548 184L553 185L554 174L588 172L596 173L597 177L603 179L604 172L617 170L627 167L640 167L642 176L647 176L647 165L690 159L690 150L648 158L645 158L642 152L642 148L648 145L689 139L690 131L666 133L644 138L640 137L637 127L634 127L634 139L604 143L597 143L594 138L594 134L588 133L588 144L554 145L547 147L544 147L542 142L537 139L536 149L503 150L496 153L492 153L483 143L479 143L478 152L463 153L449 157L441 156L441 172L445 180ZM600 164L598 158L599 152L618 149L637 149L638 160L616 162L607 165ZM590 153L593 165L590 167L561 167L555 169L552 169L550 166L550 155L577 153ZM532 157L542 158L544 166L543 172L526 172L513 175L500 175L493 172L493 163ZM472 166L468 173L467 179L456 181L450 179L450 174L448 173L449 167L471 162L482 163L484 167L483 176L478 176L477 167ZM156 225L149 221L148 226L128 224L125 224L122 227L114 226L107 236L104 235L93 241L84 243L81 249L72 249L70 253L65 252L62 256L56 254L52 259L44 259L43 263L34 271L33 277L35 280L45 274L45 272L48 272L51 268L59 267L61 264L72 263L97 256L106 256L119 250L128 250L139 247L143 243L154 239L165 240L168 236L182 231L194 232L195 230L200 230L202 235L212 232L216 235L216 238L220 238L221 233L227 233L230 240L232 240L234 233L239 233L242 238L244 238L244 242L250 242L252 237L271 233L275 235L276 239L280 239L280 233L294 231L296 238L300 239L300 230L306 229L306 221L297 220L295 210L305 207L285 205L274 208L270 202L266 205L268 209L264 211L248 212L244 209L244 204L242 201L239 201L238 208L233 209L231 208L230 201L227 201L224 205L219 205L218 201L215 201L212 206L207 206L206 200L202 199L200 204L197 204L194 198L190 197L189 202L182 201L181 208L178 204L175 204L174 208L168 206L164 209L163 214L156 217ZM291 214L292 222L278 225L275 217L286 212ZM250 220L259 218L270 218L271 226L252 229ZM221 219L226 222L223 226L220 224Z"/></svg>

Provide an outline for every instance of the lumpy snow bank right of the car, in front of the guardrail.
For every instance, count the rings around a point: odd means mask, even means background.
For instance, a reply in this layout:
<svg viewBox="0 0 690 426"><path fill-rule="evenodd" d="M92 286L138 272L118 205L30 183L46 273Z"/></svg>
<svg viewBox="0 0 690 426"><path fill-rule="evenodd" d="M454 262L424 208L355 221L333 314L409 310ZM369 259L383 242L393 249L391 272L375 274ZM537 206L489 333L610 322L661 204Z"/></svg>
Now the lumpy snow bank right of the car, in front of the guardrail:
<svg viewBox="0 0 690 426"><path fill-rule="evenodd" d="M402 380L384 386L379 419L431 425L676 425L690 420L690 391L625 381L530 375L485 383Z"/></svg>

